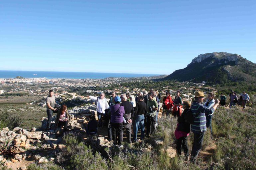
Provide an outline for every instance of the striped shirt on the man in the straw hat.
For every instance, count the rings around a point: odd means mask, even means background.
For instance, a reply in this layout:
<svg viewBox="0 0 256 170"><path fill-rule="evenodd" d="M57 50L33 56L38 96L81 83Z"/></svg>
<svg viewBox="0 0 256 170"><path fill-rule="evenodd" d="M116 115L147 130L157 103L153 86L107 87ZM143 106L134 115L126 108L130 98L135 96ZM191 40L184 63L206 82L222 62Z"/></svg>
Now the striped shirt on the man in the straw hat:
<svg viewBox="0 0 256 170"><path fill-rule="evenodd" d="M191 105L191 111L194 116L194 123L191 124L193 133L206 132L206 117L205 114L212 114L215 110L204 107L202 104L194 101Z"/></svg>

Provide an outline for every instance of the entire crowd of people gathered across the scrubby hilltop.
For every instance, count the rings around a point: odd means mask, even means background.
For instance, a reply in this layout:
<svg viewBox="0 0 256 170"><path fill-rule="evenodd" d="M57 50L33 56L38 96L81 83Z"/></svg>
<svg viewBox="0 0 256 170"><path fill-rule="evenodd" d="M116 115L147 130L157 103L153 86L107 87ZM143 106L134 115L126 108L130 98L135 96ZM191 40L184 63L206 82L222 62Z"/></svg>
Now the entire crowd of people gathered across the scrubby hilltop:
<svg viewBox="0 0 256 170"><path fill-rule="evenodd" d="M137 142L138 130L141 130L141 140L144 139L145 125L147 127L146 135L150 136L155 132L157 126L157 117L160 110L161 95L158 91L151 89L149 92L139 92L135 97L130 92L126 94L116 95L113 91L108 101L105 94L101 93L99 97L88 96L95 101L98 121L95 120L95 115L89 116L89 122L86 127L87 135L96 135L98 127L107 126L108 140L112 141L114 145L122 147L123 132L126 131L127 142L131 143L131 135L133 131L133 141ZM243 108L250 97L243 92L240 96L242 98ZM181 155L184 150L184 155L189 160L188 136L190 131L193 132L193 146L191 151L190 161L194 163L199 151L202 148L203 136L206 129L209 128L212 137L211 120L213 113L217 106L226 104L226 96L221 94L220 101L214 99L212 92L207 94L206 102L203 103L205 96L202 91L196 91L194 101L183 101L181 98L181 91L176 91L174 100L171 97L170 91L166 92L163 98L163 110L168 116L170 113L177 117L177 128L175 137L177 139L177 155ZM232 90L230 93L230 107L235 105L237 94ZM49 91L49 96L46 98L47 104L47 129L50 130L52 115L56 111L55 98L53 90ZM61 106L57 113L56 124L58 127L64 127L67 130L67 123L70 116L67 112L67 106Z"/></svg>

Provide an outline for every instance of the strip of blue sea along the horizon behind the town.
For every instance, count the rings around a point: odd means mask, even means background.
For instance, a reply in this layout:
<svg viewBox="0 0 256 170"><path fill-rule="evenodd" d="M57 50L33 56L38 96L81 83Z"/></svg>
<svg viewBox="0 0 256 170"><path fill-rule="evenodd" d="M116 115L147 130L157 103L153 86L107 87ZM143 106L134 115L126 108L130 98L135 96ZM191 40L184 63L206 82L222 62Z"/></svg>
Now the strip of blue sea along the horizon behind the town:
<svg viewBox="0 0 256 170"><path fill-rule="evenodd" d="M46 71L2 71L0 78L47 78L47 79L105 79L108 77L149 77L157 74L89 73L89 72L46 72Z"/></svg>

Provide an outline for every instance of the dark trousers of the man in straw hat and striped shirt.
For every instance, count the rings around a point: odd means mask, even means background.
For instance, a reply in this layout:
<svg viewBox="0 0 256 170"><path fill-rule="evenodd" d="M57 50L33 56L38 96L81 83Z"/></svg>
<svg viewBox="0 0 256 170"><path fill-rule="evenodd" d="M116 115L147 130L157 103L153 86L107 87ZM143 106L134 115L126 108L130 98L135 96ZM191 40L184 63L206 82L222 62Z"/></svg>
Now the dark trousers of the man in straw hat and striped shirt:
<svg viewBox="0 0 256 170"><path fill-rule="evenodd" d="M203 146L204 132L193 133L193 134L194 134L194 143L192 146L190 162L195 163L196 157L198 156L198 153L200 152L200 150Z"/></svg>

